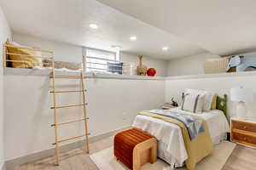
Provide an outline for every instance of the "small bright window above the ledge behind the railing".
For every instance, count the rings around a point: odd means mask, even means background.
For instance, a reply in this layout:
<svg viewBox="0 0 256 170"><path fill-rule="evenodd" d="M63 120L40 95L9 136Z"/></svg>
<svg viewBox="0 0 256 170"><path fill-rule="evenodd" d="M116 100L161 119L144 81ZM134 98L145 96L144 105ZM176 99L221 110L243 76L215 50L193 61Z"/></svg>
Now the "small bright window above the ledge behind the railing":
<svg viewBox="0 0 256 170"><path fill-rule="evenodd" d="M119 62L119 51L109 52L100 49L86 48L86 71L102 71L122 74L123 63Z"/></svg>

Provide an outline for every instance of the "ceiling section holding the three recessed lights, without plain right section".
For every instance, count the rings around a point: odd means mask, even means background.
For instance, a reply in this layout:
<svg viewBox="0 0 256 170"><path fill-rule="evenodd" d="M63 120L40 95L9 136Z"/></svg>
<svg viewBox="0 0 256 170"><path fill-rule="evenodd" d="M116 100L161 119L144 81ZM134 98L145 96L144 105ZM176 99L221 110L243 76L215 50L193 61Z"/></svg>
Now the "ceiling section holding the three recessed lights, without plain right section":
<svg viewBox="0 0 256 170"><path fill-rule="evenodd" d="M0 5L15 33L107 50L119 45L131 54L160 59L206 52L198 45L95 0L1 0ZM142 11L152 16L150 10ZM90 29L90 23L98 25L98 29ZM137 36L137 41L130 41L132 35ZM166 46L169 50L162 51Z"/></svg>

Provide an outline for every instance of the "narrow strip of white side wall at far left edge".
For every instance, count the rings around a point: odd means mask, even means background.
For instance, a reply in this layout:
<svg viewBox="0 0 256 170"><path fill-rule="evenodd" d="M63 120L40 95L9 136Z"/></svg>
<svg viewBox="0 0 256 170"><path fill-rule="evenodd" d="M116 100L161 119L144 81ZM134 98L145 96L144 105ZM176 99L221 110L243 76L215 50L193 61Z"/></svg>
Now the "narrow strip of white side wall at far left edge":
<svg viewBox="0 0 256 170"><path fill-rule="evenodd" d="M3 43L11 38L11 31L0 7L0 169L3 168Z"/></svg>

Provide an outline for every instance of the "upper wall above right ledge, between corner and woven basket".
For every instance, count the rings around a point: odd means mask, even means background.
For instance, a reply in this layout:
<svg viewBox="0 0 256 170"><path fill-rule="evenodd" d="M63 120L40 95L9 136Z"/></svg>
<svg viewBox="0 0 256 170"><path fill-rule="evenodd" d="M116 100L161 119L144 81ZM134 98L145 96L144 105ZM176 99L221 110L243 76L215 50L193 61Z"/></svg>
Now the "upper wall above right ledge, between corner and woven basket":
<svg viewBox="0 0 256 170"><path fill-rule="evenodd" d="M184 76L204 74L204 62L207 59L220 58L218 54L195 54L181 59L169 60L167 76Z"/></svg>

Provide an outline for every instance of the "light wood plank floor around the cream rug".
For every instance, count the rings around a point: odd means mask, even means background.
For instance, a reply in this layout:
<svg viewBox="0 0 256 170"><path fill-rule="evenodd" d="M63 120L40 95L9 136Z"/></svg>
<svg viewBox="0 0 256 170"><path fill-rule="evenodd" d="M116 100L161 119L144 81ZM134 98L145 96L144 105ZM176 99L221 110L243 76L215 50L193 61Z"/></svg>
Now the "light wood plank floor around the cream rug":
<svg viewBox="0 0 256 170"><path fill-rule="evenodd" d="M113 144L113 137L90 144L90 154L107 149ZM237 145L222 170L255 170L256 150ZM15 170L99 170L90 156L82 149L61 153L61 165L54 166L55 157L50 156L16 167ZM218 170L218 169L216 169Z"/></svg>

